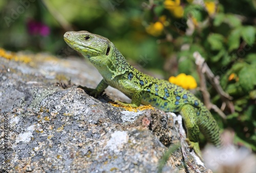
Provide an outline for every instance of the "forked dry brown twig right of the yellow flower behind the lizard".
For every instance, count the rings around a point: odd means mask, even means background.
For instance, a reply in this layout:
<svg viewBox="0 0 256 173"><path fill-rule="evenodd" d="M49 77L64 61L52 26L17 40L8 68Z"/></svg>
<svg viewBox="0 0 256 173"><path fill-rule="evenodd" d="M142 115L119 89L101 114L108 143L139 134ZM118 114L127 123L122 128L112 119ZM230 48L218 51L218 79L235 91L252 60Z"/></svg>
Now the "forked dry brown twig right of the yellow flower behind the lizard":
<svg viewBox="0 0 256 173"><path fill-rule="evenodd" d="M212 73L212 71L210 70L208 65L205 63L204 58L198 52L195 52L193 54L193 56L196 59L197 70L198 70L198 74L200 77L200 86L201 86L201 90L203 91L202 93L203 93L206 107L208 109L214 109L221 117L223 117L225 119L226 116L222 112L222 110L224 110L224 108L225 108L225 105L230 109L231 113L234 112L234 106L233 106L232 102L230 101L232 99L232 97L223 91L223 89L220 86L220 82L219 82L218 78L214 76L214 73ZM205 76L203 75L203 73L205 73L206 77L209 79L212 86L220 94L221 99L223 101L222 109L219 109L216 105L213 105L210 102L210 96L206 90L206 80L205 80ZM205 94L205 93L207 93L207 94Z"/></svg>

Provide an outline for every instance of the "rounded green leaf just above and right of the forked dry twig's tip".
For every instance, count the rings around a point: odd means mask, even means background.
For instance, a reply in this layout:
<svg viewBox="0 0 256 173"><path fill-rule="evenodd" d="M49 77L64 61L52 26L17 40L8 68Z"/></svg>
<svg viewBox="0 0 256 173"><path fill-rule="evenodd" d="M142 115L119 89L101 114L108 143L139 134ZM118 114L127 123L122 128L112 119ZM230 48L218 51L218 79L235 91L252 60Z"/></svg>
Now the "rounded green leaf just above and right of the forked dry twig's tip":
<svg viewBox="0 0 256 173"><path fill-rule="evenodd" d="M224 37L221 34L210 34L207 37L207 41L211 45L211 50L219 51L221 50L223 46Z"/></svg>

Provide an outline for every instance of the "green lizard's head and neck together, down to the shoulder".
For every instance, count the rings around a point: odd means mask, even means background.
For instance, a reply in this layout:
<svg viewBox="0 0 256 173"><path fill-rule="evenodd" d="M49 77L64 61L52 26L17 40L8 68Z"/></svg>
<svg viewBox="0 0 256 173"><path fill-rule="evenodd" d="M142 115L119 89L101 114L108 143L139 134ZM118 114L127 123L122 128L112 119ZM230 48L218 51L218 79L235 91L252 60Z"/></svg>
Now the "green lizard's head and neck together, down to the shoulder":
<svg viewBox="0 0 256 173"><path fill-rule="evenodd" d="M88 31L70 31L64 40L74 50L89 59L103 78L114 78L123 74L130 66L114 44L107 38Z"/></svg>

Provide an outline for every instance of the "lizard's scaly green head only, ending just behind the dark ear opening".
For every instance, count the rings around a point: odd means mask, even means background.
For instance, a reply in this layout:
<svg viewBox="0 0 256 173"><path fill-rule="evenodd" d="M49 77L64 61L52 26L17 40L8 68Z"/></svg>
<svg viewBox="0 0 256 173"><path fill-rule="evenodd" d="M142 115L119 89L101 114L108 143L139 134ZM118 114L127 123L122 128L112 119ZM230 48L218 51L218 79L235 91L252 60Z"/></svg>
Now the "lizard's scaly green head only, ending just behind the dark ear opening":
<svg viewBox="0 0 256 173"><path fill-rule="evenodd" d="M64 34L64 40L95 65L103 65L111 59L109 55L112 55L114 44L105 37L88 31L70 31Z"/></svg>

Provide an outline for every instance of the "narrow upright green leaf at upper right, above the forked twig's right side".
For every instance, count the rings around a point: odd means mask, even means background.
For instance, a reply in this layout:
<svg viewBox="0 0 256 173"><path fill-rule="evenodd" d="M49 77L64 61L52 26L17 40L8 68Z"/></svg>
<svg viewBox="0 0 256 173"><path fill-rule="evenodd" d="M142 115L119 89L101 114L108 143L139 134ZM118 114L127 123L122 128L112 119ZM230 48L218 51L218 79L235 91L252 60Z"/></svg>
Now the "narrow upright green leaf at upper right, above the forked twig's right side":
<svg viewBox="0 0 256 173"><path fill-rule="evenodd" d="M241 36L241 29L236 28L231 31L228 36L227 44L228 44L228 51L231 52L234 49L238 48L240 45L240 36Z"/></svg>

